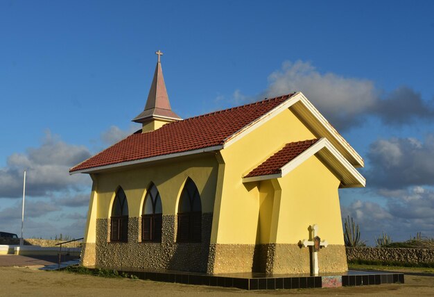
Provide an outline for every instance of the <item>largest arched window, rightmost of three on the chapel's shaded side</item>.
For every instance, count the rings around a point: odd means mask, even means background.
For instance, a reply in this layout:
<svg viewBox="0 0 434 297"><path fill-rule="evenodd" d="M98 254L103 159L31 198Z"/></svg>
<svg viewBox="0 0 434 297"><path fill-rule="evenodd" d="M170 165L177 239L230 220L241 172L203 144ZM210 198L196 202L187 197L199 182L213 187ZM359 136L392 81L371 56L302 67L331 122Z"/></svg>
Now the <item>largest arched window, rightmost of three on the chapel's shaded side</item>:
<svg viewBox="0 0 434 297"><path fill-rule="evenodd" d="M191 178L186 180L177 214L177 242L200 242L202 205L198 188Z"/></svg>

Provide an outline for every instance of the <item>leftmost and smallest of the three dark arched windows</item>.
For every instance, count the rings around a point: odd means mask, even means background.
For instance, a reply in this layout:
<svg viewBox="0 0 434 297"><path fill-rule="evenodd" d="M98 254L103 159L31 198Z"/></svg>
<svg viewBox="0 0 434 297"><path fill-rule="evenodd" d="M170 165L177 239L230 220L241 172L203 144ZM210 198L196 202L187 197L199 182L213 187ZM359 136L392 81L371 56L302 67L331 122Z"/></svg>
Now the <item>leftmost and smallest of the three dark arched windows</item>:
<svg viewBox="0 0 434 297"><path fill-rule="evenodd" d="M128 202L121 187L114 196L111 219L110 241L128 241Z"/></svg>

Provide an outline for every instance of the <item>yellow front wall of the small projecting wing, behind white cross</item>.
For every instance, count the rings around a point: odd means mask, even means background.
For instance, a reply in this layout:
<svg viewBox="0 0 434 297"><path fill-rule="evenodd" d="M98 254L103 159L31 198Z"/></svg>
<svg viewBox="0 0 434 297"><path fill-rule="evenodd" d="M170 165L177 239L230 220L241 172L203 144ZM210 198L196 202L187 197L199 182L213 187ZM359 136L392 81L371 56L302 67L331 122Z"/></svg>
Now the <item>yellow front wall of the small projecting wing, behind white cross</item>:
<svg viewBox="0 0 434 297"><path fill-rule="evenodd" d="M329 244L344 244L338 187L340 180L313 155L279 178L280 214L275 241L297 244L309 239L309 226L318 224L318 236Z"/></svg>

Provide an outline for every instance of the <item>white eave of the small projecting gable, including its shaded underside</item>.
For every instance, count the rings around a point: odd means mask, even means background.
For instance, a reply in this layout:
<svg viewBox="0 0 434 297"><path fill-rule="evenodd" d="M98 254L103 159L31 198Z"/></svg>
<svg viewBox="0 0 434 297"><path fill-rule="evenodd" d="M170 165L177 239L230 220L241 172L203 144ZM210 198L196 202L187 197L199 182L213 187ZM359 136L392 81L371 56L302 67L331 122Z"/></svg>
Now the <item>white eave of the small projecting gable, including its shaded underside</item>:
<svg viewBox="0 0 434 297"><path fill-rule="evenodd" d="M281 172L266 176L252 176L243 178L243 183L257 182L260 180L269 180L272 178L282 178L286 174L300 166L304 161L317 155L323 162L328 164L341 181L340 187L365 187L365 178L351 165L348 160L329 142L329 139L322 137L311 147L306 149L300 155L281 167Z"/></svg>

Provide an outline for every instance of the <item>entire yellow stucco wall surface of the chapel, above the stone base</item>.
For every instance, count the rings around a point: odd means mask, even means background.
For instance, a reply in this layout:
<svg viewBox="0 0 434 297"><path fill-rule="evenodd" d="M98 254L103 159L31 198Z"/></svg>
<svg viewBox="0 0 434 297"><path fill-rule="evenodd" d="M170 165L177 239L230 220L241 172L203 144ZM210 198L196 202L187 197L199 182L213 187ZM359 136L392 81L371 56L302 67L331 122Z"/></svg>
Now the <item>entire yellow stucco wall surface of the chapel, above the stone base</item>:
<svg viewBox="0 0 434 297"><path fill-rule="evenodd" d="M163 214L176 214L186 178L200 192L202 212L214 212L211 244L297 244L317 223L329 244L343 244L339 180L315 156L284 178L243 183L242 177L284 144L317 138L293 112L284 110L219 153L142 164L96 173L89 203L86 242L95 242L96 219L110 217L122 187L130 217L139 217L146 189L155 183Z"/></svg>

